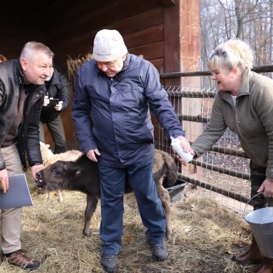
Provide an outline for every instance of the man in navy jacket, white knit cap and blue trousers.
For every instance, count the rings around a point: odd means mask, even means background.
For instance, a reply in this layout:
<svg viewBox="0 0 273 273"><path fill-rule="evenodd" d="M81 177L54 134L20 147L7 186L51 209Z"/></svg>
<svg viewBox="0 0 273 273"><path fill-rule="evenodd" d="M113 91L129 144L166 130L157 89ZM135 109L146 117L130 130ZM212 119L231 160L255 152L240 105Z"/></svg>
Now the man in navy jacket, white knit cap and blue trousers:
<svg viewBox="0 0 273 273"><path fill-rule="evenodd" d="M78 69L72 118L80 150L98 162L102 267L111 273L116 271L121 248L127 174L153 257L162 261L168 256L165 211L153 180L154 128L149 108L167 137L179 138L187 152L190 144L160 85L158 71L145 59L129 54L118 31L103 29L97 33L93 57Z"/></svg>

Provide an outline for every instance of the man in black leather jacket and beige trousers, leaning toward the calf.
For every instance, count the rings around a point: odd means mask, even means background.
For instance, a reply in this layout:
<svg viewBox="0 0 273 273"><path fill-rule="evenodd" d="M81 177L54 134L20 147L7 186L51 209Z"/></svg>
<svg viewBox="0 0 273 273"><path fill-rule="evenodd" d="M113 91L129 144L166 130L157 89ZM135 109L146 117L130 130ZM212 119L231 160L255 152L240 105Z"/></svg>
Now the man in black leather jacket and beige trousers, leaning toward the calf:
<svg viewBox="0 0 273 273"><path fill-rule="evenodd" d="M39 120L45 79L50 76L53 52L43 43L29 42L20 58L0 64L0 186L8 190L8 176L31 174L43 169ZM25 270L36 269L40 262L27 257L21 249L22 207L1 209L1 248L3 259Z"/></svg>

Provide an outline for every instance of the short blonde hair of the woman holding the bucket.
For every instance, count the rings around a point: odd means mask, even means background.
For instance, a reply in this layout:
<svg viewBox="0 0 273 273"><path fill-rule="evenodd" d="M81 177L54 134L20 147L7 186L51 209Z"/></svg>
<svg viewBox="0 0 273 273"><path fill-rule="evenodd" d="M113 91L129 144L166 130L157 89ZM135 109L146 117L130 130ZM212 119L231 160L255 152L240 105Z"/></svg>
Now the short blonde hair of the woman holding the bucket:
<svg viewBox="0 0 273 273"><path fill-rule="evenodd" d="M253 67L253 51L241 40L229 40L216 46L214 53L207 61L211 71L237 67L241 72Z"/></svg>

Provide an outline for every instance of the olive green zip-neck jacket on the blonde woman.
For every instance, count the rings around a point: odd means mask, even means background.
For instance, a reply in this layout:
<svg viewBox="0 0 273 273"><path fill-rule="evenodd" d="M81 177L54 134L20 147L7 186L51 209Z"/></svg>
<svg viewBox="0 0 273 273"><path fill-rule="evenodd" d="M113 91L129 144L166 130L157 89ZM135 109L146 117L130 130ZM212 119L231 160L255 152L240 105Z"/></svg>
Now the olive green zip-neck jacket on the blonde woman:
<svg viewBox="0 0 273 273"><path fill-rule="evenodd" d="M230 94L219 91L216 95L207 128L192 145L195 158L214 146L228 127L238 135L251 161L267 167L267 179L273 181L273 80L248 70L235 107Z"/></svg>

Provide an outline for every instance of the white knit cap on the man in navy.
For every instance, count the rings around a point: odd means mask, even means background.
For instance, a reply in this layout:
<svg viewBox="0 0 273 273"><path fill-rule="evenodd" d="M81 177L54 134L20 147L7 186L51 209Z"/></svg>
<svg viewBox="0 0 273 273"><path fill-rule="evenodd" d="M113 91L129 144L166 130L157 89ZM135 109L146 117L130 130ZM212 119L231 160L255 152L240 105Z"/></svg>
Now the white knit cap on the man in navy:
<svg viewBox="0 0 273 273"><path fill-rule="evenodd" d="M127 54L123 36L113 29L102 29L94 37L93 58L97 62L112 62Z"/></svg>

